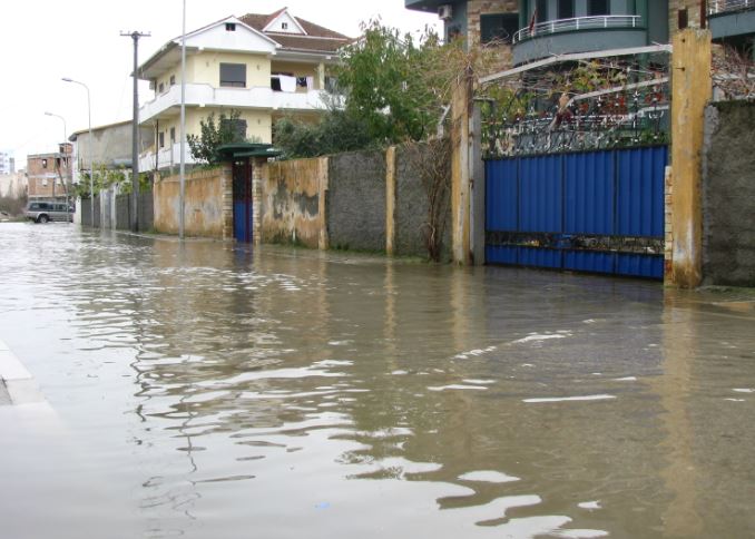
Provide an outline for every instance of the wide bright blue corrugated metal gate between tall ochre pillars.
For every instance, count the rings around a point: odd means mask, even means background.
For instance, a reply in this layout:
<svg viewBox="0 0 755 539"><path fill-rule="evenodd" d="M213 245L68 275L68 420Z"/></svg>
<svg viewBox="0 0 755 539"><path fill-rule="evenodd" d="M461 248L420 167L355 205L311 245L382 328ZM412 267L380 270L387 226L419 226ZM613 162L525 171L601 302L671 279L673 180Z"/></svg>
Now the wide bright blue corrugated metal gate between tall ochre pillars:
<svg viewBox="0 0 755 539"><path fill-rule="evenodd" d="M489 264L664 276L668 147L486 161Z"/></svg>

